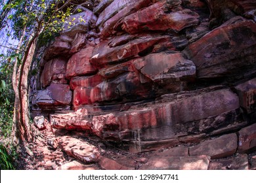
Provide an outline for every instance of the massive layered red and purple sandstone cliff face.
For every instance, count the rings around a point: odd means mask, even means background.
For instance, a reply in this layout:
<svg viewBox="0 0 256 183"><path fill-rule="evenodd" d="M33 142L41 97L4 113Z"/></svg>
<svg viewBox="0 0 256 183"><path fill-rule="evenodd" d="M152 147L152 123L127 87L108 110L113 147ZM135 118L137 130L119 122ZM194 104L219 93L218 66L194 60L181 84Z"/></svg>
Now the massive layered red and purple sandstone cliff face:
<svg viewBox="0 0 256 183"><path fill-rule="evenodd" d="M255 8L242 0L82 8L45 51L33 110L51 113L55 131L83 131L131 152L223 134L218 143L230 142L226 148L205 142L190 155L252 150L255 131L246 139L243 127L256 122Z"/></svg>

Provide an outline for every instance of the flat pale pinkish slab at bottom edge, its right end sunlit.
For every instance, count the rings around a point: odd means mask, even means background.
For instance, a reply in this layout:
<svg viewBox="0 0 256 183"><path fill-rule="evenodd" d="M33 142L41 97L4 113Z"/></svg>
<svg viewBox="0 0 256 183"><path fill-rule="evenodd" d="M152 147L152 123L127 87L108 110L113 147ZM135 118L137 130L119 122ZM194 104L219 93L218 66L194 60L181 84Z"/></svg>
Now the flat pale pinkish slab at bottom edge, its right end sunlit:
<svg viewBox="0 0 256 183"><path fill-rule="evenodd" d="M152 157L139 170L207 170L209 156Z"/></svg>

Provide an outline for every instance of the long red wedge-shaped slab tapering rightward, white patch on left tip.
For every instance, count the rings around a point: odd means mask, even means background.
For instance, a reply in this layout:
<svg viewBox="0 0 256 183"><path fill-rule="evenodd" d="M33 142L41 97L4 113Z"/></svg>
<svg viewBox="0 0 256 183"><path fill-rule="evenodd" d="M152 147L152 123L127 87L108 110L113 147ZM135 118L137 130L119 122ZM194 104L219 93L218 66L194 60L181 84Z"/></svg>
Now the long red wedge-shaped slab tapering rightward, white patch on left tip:
<svg viewBox="0 0 256 183"><path fill-rule="evenodd" d="M136 58L142 56L144 52L148 52L148 49L152 48L154 44L164 41L165 39L168 39L168 36L147 36L112 48L108 46L108 41L102 41L93 50L93 56L90 62L96 67L102 67L124 59Z"/></svg>

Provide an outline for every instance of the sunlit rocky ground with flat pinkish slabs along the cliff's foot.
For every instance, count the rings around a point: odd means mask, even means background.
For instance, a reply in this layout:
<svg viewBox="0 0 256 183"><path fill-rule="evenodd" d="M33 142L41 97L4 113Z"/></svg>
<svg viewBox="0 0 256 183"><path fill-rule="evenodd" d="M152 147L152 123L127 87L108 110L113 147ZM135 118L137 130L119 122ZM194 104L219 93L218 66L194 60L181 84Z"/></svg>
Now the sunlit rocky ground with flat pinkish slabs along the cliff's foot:
<svg viewBox="0 0 256 183"><path fill-rule="evenodd" d="M249 128L255 132L255 127L251 125ZM42 131L35 131L34 142L20 148L20 156L16 159L18 169L256 169L256 152L250 150L239 153L237 141L232 141L236 133L199 144L189 143L132 153L107 141L79 137L79 133L65 132L65 136L56 137L50 124Z"/></svg>

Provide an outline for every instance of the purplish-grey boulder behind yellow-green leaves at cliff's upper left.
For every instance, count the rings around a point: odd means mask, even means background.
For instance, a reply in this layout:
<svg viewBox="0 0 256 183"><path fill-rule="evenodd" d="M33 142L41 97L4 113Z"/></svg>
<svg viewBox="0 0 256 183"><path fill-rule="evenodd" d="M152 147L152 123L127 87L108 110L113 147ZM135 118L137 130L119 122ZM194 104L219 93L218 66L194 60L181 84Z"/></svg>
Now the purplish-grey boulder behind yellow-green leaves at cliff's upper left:
<svg viewBox="0 0 256 183"><path fill-rule="evenodd" d="M73 14L68 17L67 23L64 24L64 31L61 35L75 37L77 33L86 33L92 24L96 23L96 16L91 10L86 9L83 12Z"/></svg>

